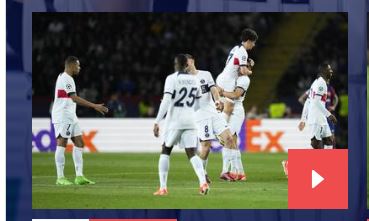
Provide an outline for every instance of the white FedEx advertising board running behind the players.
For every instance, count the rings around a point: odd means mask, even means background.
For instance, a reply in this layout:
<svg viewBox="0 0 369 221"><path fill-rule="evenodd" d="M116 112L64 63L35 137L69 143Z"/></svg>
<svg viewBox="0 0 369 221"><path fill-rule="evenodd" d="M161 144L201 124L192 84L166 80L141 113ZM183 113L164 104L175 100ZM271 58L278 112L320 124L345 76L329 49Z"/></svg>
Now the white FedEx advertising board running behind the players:
<svg viewBox="0 0 369 221"><path fill-rule="evenodd" d="M83 140L89 152L160 152L162 139L152 132L154 119L81 118ZM286 152L310 148L308 128L298 131L297 119L247 120L239 134L239 146L249 152ZM161 134L164 128L161 127ZM68 143L67 151L73 145ZM48 118L32 119L32 151L53 152L54 128ZM173 151L183 152L180 148Z"/></svg>

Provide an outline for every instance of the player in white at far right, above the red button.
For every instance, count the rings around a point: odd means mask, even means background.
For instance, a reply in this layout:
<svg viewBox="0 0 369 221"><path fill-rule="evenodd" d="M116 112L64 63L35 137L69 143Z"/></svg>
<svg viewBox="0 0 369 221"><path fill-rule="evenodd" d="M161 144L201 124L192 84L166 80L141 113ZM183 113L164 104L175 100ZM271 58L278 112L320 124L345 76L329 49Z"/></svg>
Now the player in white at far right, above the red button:
<svg viewBox="0 0 369 221"><path fill-rule="evenodd" d="M311 130L311 146L314 149L333 148L333 136L328 121L337 123L336 117L326 108L328 98L327 83L333 76L333 70L328 63L319 67L319 77L310 87L308 103L305 102L303 117L306 118ZM308 106L307 106L308 105ZM301 125L301 123L300 123ZM299 129L303 129L299 125Z"/></svg>

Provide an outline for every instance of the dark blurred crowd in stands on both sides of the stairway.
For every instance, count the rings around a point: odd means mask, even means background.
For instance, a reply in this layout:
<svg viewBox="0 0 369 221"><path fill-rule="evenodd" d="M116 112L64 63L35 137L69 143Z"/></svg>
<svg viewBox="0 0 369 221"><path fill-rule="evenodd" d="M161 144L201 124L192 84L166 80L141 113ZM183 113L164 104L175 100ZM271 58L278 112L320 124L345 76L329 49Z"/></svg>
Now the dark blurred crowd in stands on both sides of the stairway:
<svg viewBox="0 0 369 221"><path fill-rule="evenodd" d="M175 54L193 54L197 66L209 70L215 78L229 50L239 43L243 28L268 36L283 16L286 14L36 14L33 115L49 115L56 77L63 71L65 57L74 55L82 66L76 78L80 96L105 103L111 109L108 117L153 117L164 80L173 72ZM336 71L331 84L338 96L347 95L347 23L342 22L346 19L344 15L332 17L290 64L277 87L275 103L265 110L249 107L247 116L273 117L271 109L276 107L279 112L283 110L280 117L298 117L302 105L297 98L316 78L317 64L326 61ZM257 57L257 52L266 47L263 39L258 40L250 57ZM86 108L79 108L78 115L97 116ZM347 120L347 115L342 118Z"/></svg>

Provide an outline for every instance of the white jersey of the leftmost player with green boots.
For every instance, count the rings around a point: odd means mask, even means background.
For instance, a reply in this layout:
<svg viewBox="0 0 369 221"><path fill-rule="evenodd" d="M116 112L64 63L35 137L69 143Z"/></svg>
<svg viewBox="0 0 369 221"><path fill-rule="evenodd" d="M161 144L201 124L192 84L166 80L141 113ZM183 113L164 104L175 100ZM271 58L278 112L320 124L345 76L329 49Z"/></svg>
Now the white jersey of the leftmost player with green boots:
<svg viewBox="0 0 369 221"><path fill-rule="evenodd" d="M52 122L73 124L78 121L77 104L69 97L76 93L74 79L67 73L61 73L56 80L54 104L51 112Z"/></svg>

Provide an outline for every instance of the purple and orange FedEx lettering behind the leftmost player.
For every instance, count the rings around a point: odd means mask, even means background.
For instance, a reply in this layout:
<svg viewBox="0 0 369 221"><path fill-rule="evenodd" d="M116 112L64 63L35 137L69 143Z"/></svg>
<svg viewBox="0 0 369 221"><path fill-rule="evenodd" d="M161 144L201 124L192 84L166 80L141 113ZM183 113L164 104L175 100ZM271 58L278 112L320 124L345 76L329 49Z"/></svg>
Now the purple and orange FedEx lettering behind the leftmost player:
<svg viewBox="0 0 369 221"><path fill-rule="evenodd" d="M85 148L90 152L97 152L93 139L97 131L91 130L89 132L82 132L82 139L85 143ZM53 124L50 122L49 129L42 129L37 132L32 131L32 149L35 148L40 152L54 152L56 150L56 138ZM68 143L66 151L71 152L73 148L72 143Z"/></svg>

